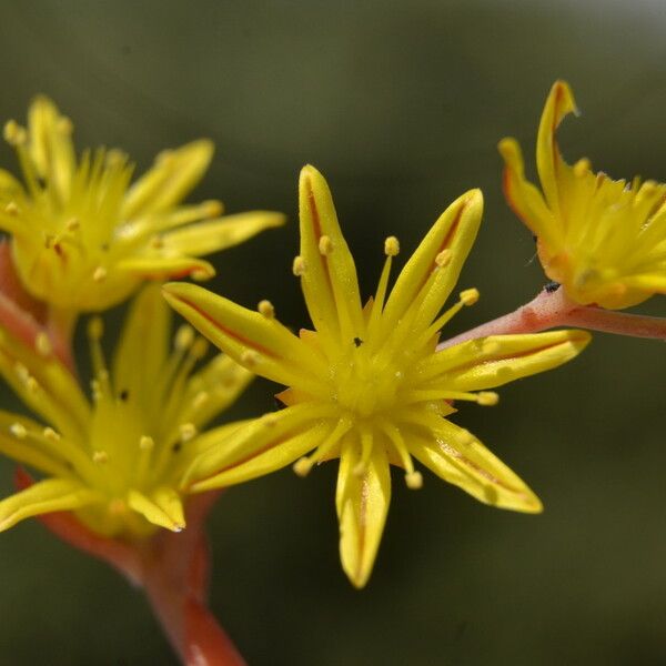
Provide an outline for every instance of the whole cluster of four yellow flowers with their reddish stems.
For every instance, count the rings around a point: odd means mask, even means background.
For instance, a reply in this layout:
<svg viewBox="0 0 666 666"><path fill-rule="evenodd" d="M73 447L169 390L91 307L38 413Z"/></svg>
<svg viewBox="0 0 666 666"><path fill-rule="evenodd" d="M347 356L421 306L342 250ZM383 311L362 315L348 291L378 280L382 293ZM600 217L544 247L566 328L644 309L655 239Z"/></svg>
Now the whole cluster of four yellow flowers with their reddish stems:
<svg viewBox="0 0 666 666"><path fill-rule="evenodd" d="M162 153L132 183L124 153L77 157L71 122L37 99L27 128L4 128L24 182L0 171L0 229L10 235L0 244L0 375L33 413L0 411L0 453L36 478L21 468L19 491L0 500L0 531L40 517L143 585L185 663L205 645L240 664L205 608L211 491L289 465L304 476L337 458L340 557L356 587L377 555L392 466L412 490L427 467L484 504L541 512L526 483L458 424L457 405L495 405L494 389L571 361L591 340L557 326L666 339L664 320L614 312L666 292L666 185L614 181L586 159L567 164L555 132L575 110L556 82L536 142L543 192L526 180L517 142L500 143L508 203L557 284L446 340L445 325L480 297L464 289L451 300L480 230L480 190L446 208L393 283L400 242L386 238L376 291L363 299L329 185L303 168L292 272L312 326L294 334L266 300L249 310L195 284L162 285L211 276L202 256L283 222L182 203L211 161L209 141ZM73 325L134 292L110 365L102 317L88 320L88 387ZM168 303L203 337L189 324L173 334ZM221 353L206 360L204 337ZM211 425L254 375L283 386L283 407Z"/></svg>

